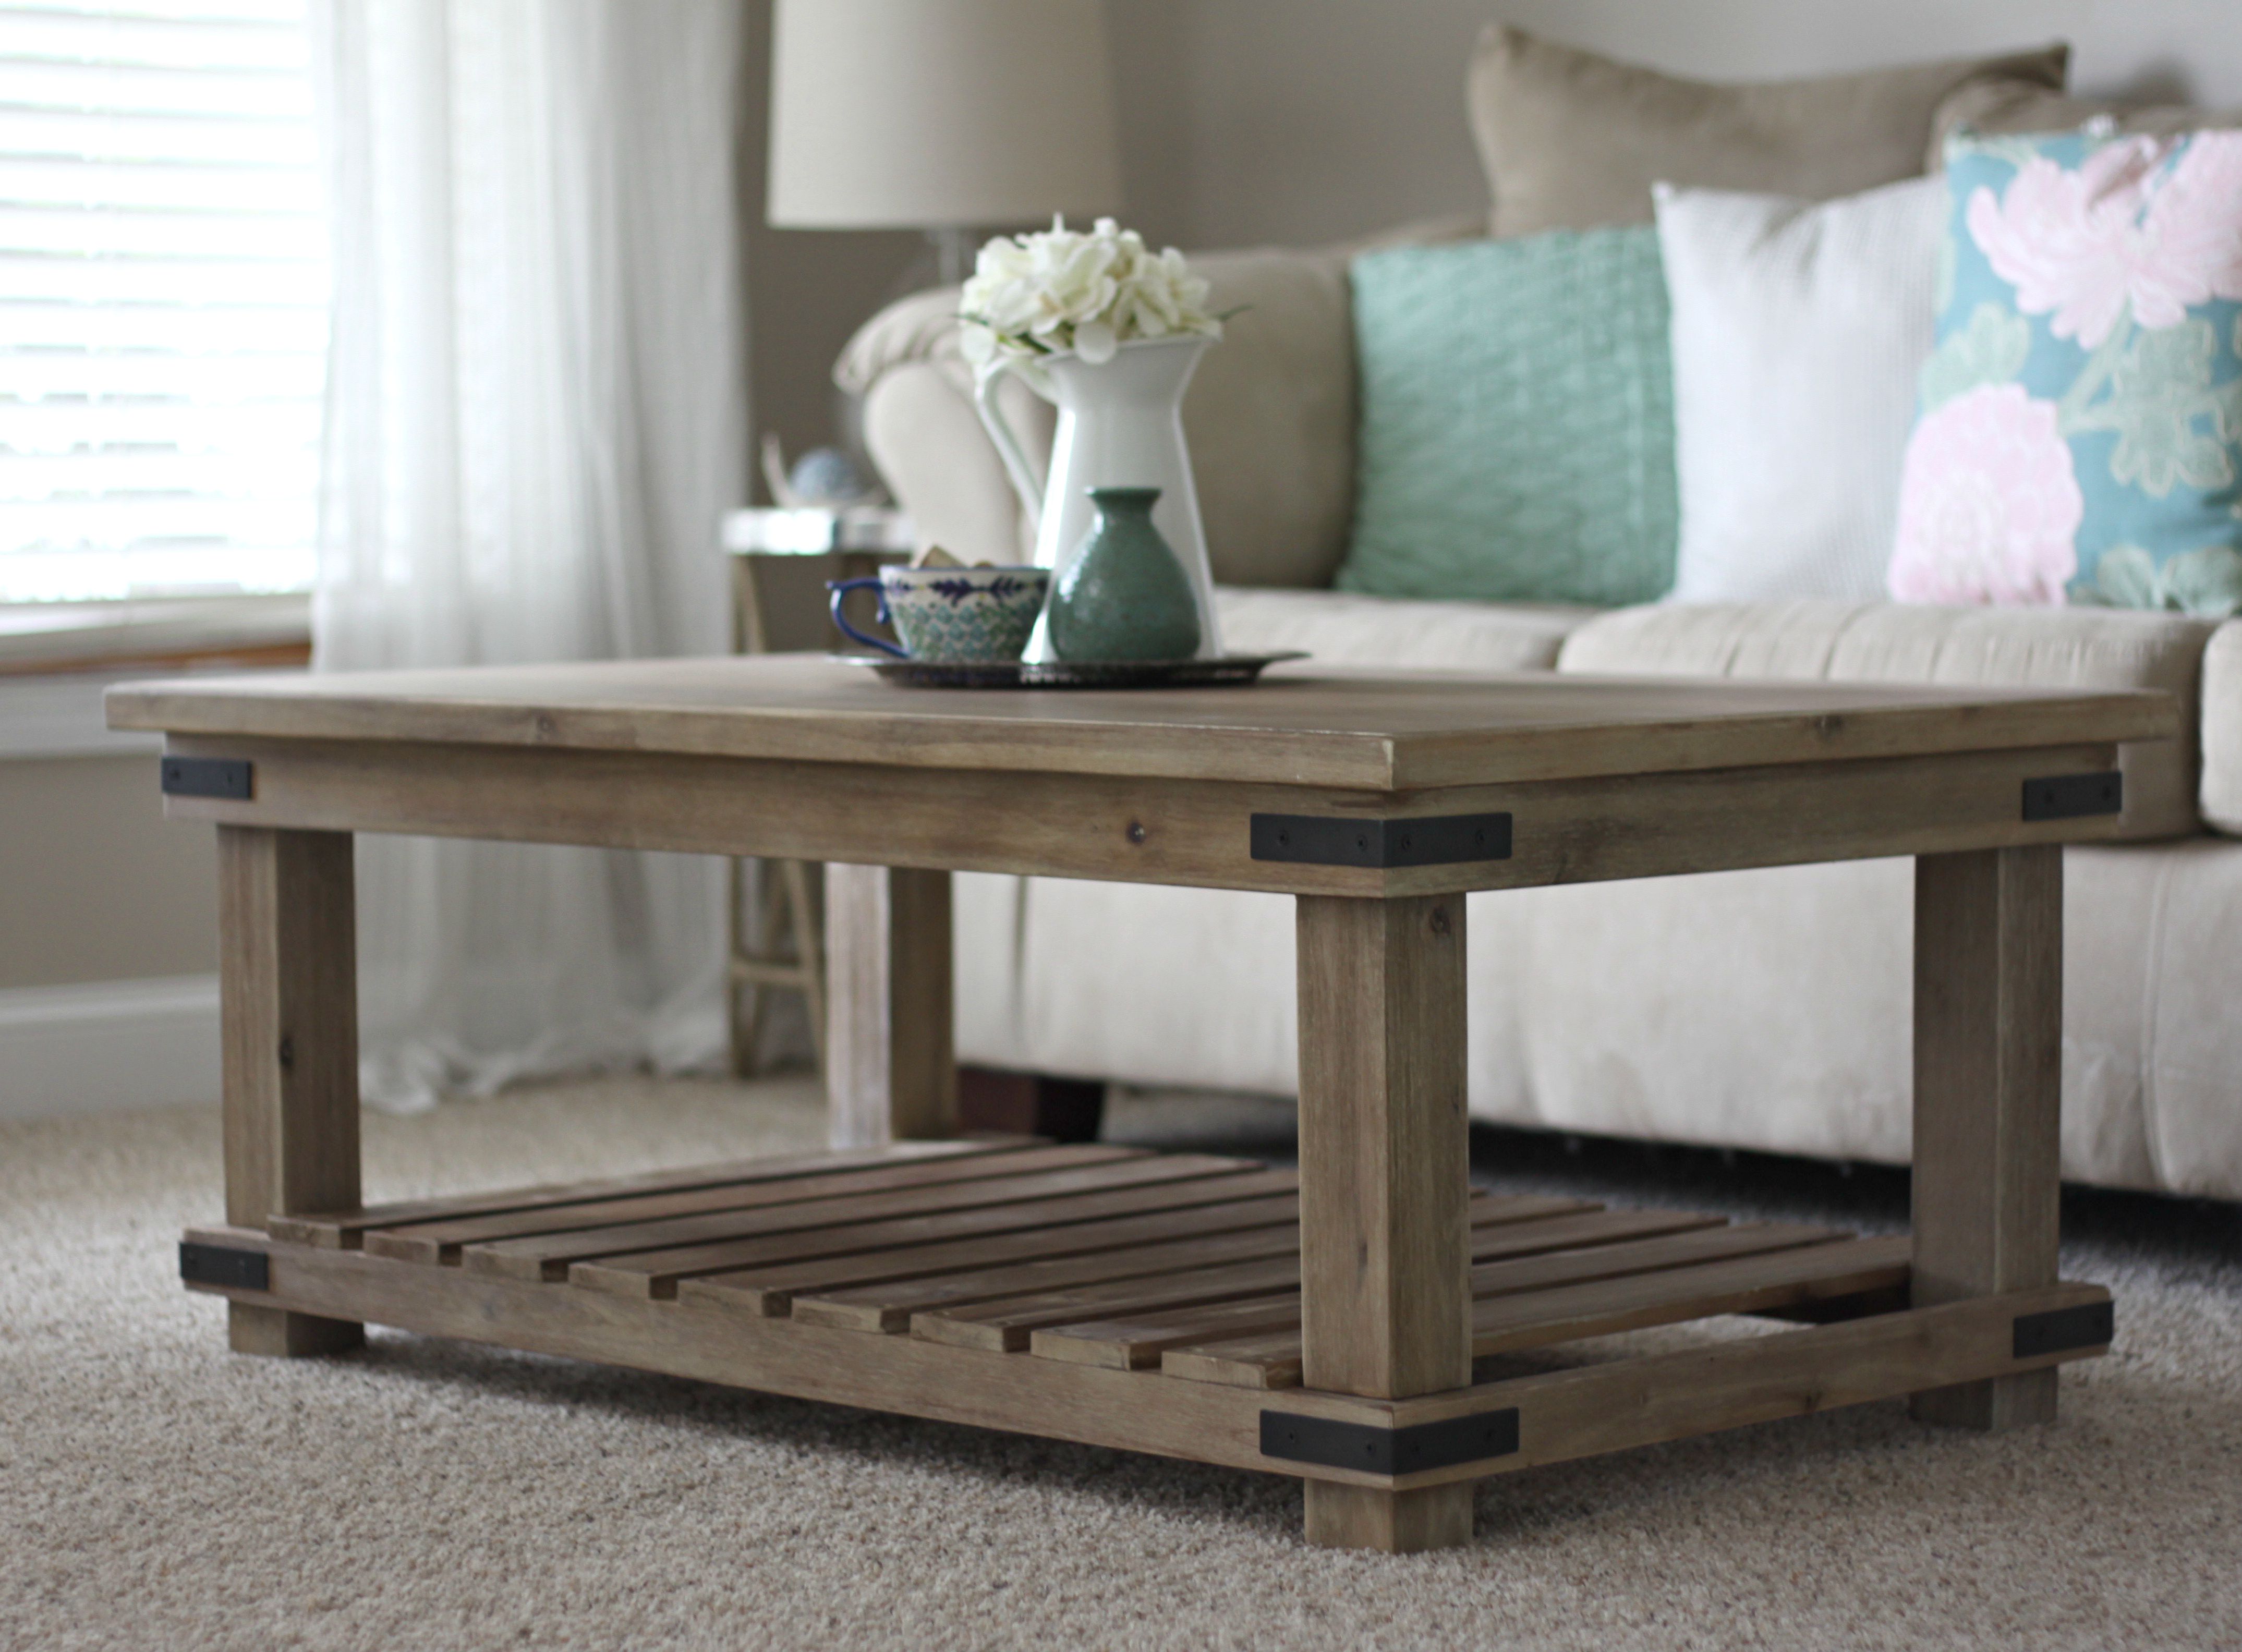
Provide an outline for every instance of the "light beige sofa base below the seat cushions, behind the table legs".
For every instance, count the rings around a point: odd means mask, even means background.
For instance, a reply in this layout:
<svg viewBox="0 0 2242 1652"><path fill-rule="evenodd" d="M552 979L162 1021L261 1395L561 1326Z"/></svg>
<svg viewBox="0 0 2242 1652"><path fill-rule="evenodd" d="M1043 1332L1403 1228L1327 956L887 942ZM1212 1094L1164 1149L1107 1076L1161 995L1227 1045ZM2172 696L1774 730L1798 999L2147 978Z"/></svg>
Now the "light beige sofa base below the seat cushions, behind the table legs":
<svg viewBox="0 0 2242 1652"><path fill-rule="evenodd" d="M1469 1103L1540 1130L1908 1157L1908 861L1473 894ZM2242 843L2063 854L2063 1175L2242 1197ZM1296 1094L1282 894L957 874L957 1054Z"/></svg>

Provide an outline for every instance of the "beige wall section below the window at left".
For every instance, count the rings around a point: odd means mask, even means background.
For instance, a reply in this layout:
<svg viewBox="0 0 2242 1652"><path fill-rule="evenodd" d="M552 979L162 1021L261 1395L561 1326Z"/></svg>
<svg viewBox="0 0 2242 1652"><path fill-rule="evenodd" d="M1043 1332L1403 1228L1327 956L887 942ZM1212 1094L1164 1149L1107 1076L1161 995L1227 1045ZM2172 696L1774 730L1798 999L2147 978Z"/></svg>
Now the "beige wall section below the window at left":
<svg viewBox="0 0 2242 1652"><path fill-rule="evenodd" d="M0 760L0 989L215 971L211 845L155 753Z"/></svg>

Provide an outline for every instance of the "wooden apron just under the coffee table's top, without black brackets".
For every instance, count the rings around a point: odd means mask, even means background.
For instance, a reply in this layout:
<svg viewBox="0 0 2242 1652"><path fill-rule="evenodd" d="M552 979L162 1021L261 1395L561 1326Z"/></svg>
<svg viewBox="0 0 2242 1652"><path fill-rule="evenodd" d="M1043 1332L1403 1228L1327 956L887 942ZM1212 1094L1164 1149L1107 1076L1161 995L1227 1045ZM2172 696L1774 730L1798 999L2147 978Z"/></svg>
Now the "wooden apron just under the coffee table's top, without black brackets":
<svg viewBox="0 0 2242 1652"><path fill-rule="evenodd" d="M256 771L247 800L166 798L175 818L1298 894L1587 883L2123 829L2114 814L2022 818L2027 780L2103 773L2116 762L2107 744L1403 793L401 740L175 735L168 749ZM1253 811L1395 820L1502 811L1513 816L1511 856L1392 870L1256 861Z"/></svg>

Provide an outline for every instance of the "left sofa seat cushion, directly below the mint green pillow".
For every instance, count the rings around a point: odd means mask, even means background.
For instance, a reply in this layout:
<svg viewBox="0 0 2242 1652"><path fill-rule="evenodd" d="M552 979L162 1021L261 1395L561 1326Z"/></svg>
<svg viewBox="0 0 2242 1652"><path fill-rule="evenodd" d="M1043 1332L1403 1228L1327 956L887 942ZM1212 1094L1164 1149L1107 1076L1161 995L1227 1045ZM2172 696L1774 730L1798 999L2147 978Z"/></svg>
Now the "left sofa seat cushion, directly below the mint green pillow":
<svg viewBox="0 0 2242 1652"><path fill-rule="evenodd" d="M1305 648L1318 666L1419 670L1549 670L1565 637L1596 614L1556 603L1410 603L1220 585L1215 612L1233 655Z"/></svg>

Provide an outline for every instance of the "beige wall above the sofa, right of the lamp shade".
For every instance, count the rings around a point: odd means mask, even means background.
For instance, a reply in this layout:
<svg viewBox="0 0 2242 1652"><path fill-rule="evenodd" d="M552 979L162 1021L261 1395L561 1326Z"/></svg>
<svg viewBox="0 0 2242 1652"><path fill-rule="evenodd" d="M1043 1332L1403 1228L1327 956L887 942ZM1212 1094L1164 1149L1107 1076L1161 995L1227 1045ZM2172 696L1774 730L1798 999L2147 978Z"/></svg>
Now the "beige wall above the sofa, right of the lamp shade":
<svg viewBox="0 0 2242 1652"><path fill-rule="evenodd" d="M2242 105L2238 0L1112 0L1128 184L1186 247L1314 244L1484 204L1464 63L1493 18L1704 78L2074 45L2078 87ZM1168 83L1161 83L1168 81ZM1168 229L1173 226L1173 229Z"/></svg>

